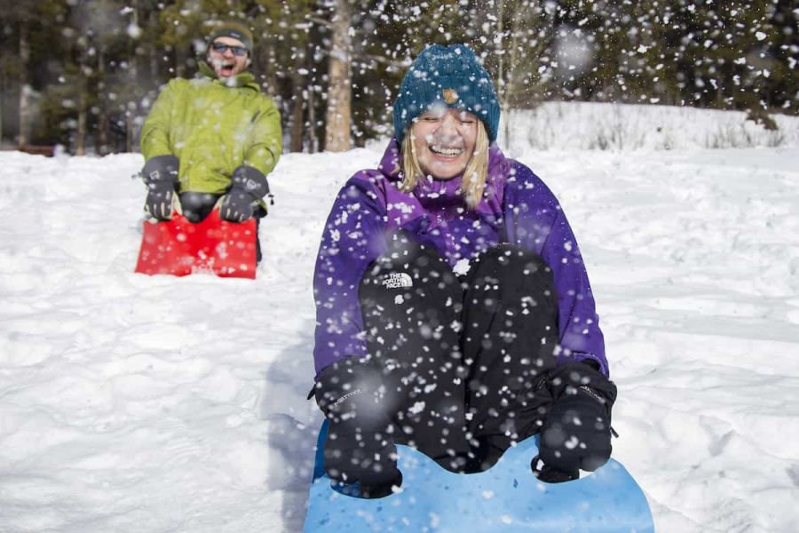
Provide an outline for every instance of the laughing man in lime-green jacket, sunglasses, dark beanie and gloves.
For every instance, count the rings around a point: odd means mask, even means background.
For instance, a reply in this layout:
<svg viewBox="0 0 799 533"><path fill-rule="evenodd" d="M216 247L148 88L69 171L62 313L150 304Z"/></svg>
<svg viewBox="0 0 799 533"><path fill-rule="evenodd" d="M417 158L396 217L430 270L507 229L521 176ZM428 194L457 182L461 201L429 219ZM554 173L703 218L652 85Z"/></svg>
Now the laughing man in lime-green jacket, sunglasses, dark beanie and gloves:
<svg viewBox="0 0 799 533"><path fill-rule="evenodd" d="M174 193L184 216L243 222L266 214L266 174L281 155L281 116L247 68L252 33L238 21L218 24L192 80L173 79L141 130L145 211L172 217ZM260 254L258 254L260 256Z"/></svg>

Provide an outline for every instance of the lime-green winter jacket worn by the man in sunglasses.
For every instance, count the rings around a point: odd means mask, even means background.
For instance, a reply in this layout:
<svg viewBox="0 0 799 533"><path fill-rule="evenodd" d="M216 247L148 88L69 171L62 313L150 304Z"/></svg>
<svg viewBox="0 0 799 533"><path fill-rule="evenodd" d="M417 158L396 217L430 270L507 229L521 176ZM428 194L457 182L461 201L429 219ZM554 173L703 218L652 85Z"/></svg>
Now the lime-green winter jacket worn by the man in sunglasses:
<svg viewBox="0 0 799 533"><path fill-rule="evenodd" d="M265 175L281 156L281 115L255 76L227 80L204 62L194 79L170 81L141 129L141 153L178 157L178 192L223 195L241 164Z"/></svg>

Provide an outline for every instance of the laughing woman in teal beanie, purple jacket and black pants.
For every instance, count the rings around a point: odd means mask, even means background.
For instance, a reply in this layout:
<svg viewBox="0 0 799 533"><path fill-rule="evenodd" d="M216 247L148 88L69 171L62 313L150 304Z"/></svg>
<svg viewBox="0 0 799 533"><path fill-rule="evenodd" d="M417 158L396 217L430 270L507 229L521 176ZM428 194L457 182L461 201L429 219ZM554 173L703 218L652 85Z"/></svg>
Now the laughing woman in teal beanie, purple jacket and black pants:
<svg viewBox="0 0 799 533"><path fill-rule="evenodd" d="M494 144L499 116L469 47L427 48L383 160L328 217L314 394L325 468L364 497L401 483L396 443L470 473L541 432L545 481L610 457L616 387L585 266L550 189Z"/></svg>

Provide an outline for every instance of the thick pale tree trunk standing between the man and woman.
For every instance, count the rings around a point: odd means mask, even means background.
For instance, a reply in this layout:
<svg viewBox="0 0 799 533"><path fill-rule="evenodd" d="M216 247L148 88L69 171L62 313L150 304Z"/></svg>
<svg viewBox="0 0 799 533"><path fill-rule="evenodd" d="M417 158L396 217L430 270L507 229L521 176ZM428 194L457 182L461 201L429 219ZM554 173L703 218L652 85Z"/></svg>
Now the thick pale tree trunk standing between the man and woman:
<svg viewBox="0 0 799 533"><path fill-rule="evenodd" d="M333 45L328 62L328 112L325 116L325 149L330 152L352 148L351 23L349 0L336 0L332 20Z"/></svg>

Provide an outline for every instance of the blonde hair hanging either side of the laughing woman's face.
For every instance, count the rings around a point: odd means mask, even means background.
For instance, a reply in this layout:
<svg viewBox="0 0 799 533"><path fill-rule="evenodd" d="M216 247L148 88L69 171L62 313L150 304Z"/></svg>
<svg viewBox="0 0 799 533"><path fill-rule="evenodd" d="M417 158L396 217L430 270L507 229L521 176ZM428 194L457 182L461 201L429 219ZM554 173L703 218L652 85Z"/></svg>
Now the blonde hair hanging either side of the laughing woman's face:
<svg viewBox="0 0 799 533"><path fill-rule="evenodd" d="M407 129L405 138L402 139L402 163L403 174L402 188L406 191L413 191L420 178L424 177L424 171L419 165L416 157L412 130L413 123ZM469 163L463 171L461 181L461 195L463 195L469 209L475 209L483 197L486 189L486 179L488 177L488 133L483 121L477 121L477 139L474 143L474 152L471 154Z"/></svg>

